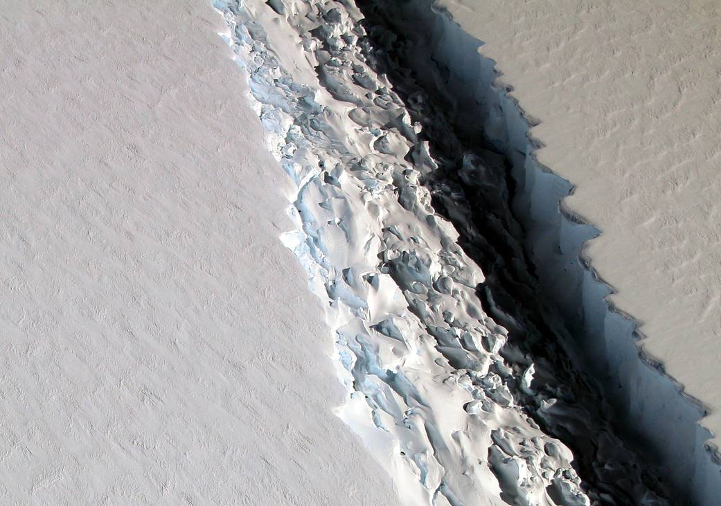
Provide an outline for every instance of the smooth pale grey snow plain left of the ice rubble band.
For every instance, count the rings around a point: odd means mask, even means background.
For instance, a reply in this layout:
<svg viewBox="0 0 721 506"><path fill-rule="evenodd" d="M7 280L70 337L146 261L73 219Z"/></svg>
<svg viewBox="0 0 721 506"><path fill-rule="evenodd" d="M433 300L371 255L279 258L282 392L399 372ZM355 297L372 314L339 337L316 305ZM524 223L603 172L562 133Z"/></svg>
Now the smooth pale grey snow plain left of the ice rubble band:
<svg viewBox="0 0 721 506"><path fill-rule="evenodd" d="M396 504L203 1L5 2L0 502Z"/></svg>

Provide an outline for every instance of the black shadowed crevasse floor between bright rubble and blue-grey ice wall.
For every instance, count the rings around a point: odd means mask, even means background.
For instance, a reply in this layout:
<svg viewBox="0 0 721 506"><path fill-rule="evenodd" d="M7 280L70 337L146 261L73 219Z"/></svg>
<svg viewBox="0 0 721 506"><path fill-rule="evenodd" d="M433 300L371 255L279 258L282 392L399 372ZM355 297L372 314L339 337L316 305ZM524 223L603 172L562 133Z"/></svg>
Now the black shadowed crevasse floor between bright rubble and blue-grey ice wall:
<svg viewBox="0 0 721 506"><path fill-rule="evenodd" d="M426 3L430 9L430 1ZM359 43L368 63L386 74L412 120L423 125L420 140L428 142L437 164L423 179L433 206L454 223L459 245L485 274L477 289L485 311L509 331L511 346L502 354L518 368L536 364L534 392L517 399L518 404L544 432L572 450L574 466L595 503L640 504L653 494L671 498L647 449L624 440L614 427L601 389L578 366L572 340L565 335L567 324L544 301L523 249L523 228L510 207L515 191L510 163L474 125L459 122L463 104L446 91L448 72L442 63L430 58L425 34L432 27L401 22L407 1L356 4L366 18L367 36ZM413 152L407 161L415 161ZM549 408L544 399L556 399L555 404ZM690 504L682 497L673 502Z"/></svg>

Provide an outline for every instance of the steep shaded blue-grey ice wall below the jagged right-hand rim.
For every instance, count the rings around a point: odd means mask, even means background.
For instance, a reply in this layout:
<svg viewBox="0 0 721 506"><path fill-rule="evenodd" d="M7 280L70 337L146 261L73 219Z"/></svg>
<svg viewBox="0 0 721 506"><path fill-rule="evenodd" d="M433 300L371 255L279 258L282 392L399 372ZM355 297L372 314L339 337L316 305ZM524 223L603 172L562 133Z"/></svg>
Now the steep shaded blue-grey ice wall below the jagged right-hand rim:
<svg viewBox="0 0 721 506"><path fill-rule="evenodd" d="M464 31L474 25L466 22L463 6L456 4L445 0L389 4L395 8L390 19L404 19L398 25L422 41L419 51L445 68L443 86L465 105L459 123L476 121L469 136L485 133L485 140L513 161L513 206L526 229L526 251L542 293L561 310L587 358L587 370L600 379L617 422L642 441L686 500L717 504L718 453L715 448L710 448L715 455L709 451L709 431L699 425L703 407L682 396L683 386L645 357L635 322L609 307L605 298L611 288L580 258L583 243L598 230L562 212L562 205L559 209L559 200L569 195L572 185L536 161L534 151L539 146L528 136L533 120L523 114L507 86L495 81L499 76L495 62L479 55L482 41ZM456 19L443 6L455 6Z"/></svg>

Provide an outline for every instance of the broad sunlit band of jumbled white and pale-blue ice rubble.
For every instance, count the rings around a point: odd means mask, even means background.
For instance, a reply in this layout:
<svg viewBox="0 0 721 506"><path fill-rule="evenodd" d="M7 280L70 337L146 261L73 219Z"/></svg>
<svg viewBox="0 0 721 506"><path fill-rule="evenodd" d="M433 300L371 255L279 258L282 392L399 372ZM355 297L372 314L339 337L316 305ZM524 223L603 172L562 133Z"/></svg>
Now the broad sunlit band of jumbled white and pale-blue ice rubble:
<svg viewBox="0 0 721 506"><path fill-rule="evenodd" d="M666 504L653 471L603 420L593 388L565 383L549 360L509 342L482 308L485 277L424 185L446 163L412 119L430 98L418 88L402 99L376 72L382 48L371 44L355 5L216 7L270 151L295 186L288 200L298 228L283 241L327 303L348 389L339 415L393 476L402 500ZM390 32L374 37L393 42ZM471 179L489 173L487 158L455 156ZM507 323L533 332L511 315ZM577 394L597 402L596 411Z"/></svg>

